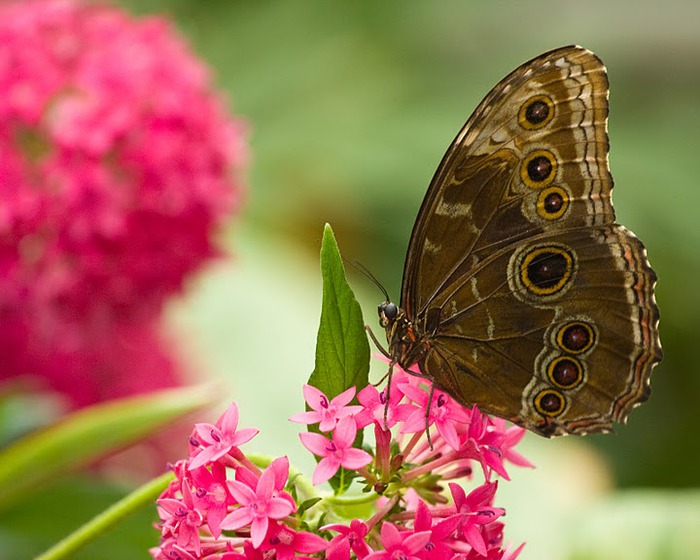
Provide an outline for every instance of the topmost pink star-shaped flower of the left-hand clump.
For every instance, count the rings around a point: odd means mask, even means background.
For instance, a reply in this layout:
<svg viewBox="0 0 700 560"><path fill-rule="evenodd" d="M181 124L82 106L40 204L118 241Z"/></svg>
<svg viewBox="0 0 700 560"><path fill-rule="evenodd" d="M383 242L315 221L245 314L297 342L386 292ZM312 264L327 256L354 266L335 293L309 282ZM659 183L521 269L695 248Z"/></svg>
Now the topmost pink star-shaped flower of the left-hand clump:
<svg viewBox="0 0 700 560"><path fill-rule="evenodd" d="M223 457L231 449L250 441L258 433L255 428L238 428L238 406L232 403L224 412L216 425L200 423L195 424L197 440L203 447L190 460L190 469L213 463Z"/></svg>

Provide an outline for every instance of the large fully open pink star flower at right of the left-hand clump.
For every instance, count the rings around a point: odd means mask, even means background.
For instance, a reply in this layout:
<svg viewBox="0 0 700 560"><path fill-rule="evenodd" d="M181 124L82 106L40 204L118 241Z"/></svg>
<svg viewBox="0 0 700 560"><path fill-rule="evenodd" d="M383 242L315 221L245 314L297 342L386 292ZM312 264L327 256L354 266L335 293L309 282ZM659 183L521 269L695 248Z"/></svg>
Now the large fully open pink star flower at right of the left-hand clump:
<svg viewBox="0 0 700 560"><path fill-rule="evenodd" d="M255 548L263 542L270 519L282 519L294 511L289 501L275 497L275 471L270 466L263 471L255 491L237 480L229 480L228 488L240 507L224 518L221 528L235 531L250 525Z"/></svg>

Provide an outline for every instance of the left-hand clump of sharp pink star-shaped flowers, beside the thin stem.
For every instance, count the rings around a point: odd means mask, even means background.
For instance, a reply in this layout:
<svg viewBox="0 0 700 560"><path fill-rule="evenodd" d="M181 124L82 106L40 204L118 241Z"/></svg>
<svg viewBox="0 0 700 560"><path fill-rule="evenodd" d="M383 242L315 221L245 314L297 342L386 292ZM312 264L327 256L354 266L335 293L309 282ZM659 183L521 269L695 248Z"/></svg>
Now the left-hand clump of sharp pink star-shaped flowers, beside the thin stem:
<svg viewBox="0 0 700 560"><path fill-rule="evenodd" d="M154 558L262 559L274 551L289 560L296 552L326 548L318 535L292 527L298 507L285 491L287 458L275 459L261 471L239 449L258 431L237 428L235 403L215 425L195 426L190 458L174 466L176 478L158 500L162 543L151 550ZM227 478L227 469L235 472L234 479ZM223 537L223 531L245 537Z"/></svg>

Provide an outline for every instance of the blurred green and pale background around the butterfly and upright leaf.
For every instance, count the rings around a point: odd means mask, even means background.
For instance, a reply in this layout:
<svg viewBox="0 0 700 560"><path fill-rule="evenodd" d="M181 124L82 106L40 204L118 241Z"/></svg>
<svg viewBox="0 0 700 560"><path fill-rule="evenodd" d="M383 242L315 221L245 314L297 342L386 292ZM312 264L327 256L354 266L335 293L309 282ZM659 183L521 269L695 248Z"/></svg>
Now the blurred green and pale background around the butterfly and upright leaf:
<svg viewBox="0 0 700 560"><path fill-rule="evenodd" d="M242 424L261 428L256 450L309 471L286 418L303 407L313 369L323 224L397 297L425 189L476 104L545 50L596 52L611 82L616 210L658 273L666 358L652 399L617 434L528 435L523 452L538 468L511 469L498 505L508 509L506 539L528 541L525 559L698 554L699 2L121 4L172 17L250 128L245 206L222 237L233 259L173 303L174 344L193 372L222 380ZM381 294L349 275L375 324ZM113 557L98 550L86 558Z"/></svg>

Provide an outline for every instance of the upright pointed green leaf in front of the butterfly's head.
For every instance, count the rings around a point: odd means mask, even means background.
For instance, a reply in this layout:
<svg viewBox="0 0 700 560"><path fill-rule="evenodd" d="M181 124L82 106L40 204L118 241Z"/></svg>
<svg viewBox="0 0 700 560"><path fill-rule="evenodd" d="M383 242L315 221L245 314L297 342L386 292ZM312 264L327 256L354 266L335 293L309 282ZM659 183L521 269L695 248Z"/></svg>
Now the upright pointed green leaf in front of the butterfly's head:
<svg viewBox="0 0 700 560"><path fill-rule="evenodd" d="M309 384L332 399L353 385L358 391L367 385L369 343L360 304L345 279L338 245L328 224L321 243L321 275L321 323Z"/></svg>

